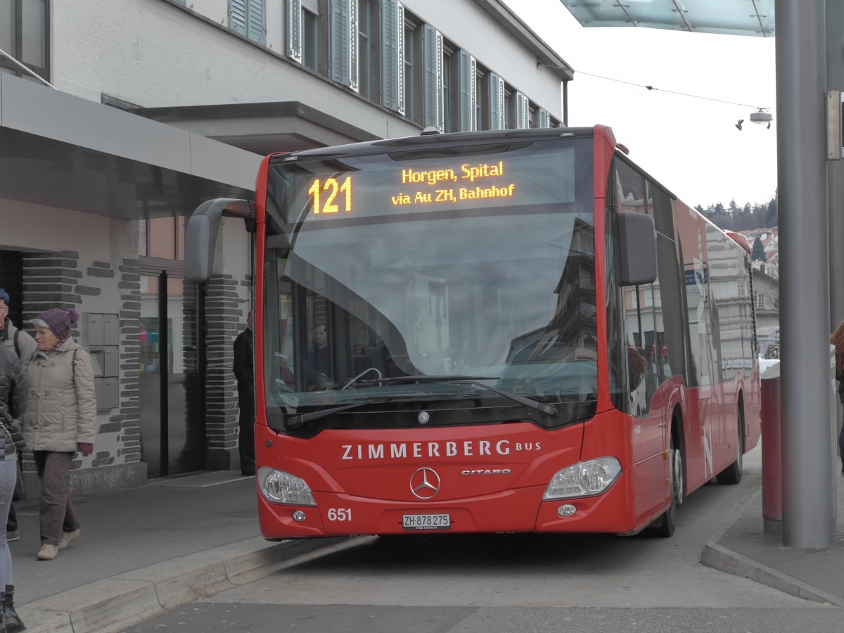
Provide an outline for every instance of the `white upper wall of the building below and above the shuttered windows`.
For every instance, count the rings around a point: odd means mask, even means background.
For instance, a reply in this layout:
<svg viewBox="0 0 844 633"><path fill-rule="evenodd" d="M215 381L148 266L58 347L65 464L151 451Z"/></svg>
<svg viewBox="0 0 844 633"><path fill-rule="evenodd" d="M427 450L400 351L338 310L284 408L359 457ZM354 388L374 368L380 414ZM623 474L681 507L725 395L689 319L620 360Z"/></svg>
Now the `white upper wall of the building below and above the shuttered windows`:
<svg viewBox="0 0 844 633"><path fill-rule="evenodd" d="M560 80L471 0L410 0L441 30L552 116L562 118ZM164 0L51 3L52 83L89 100L100 93L144 107L301 101L377 136L418 129L284 56L284 3L267 3L269 51ZM227 0L188 1L227 26Z"/></svg>

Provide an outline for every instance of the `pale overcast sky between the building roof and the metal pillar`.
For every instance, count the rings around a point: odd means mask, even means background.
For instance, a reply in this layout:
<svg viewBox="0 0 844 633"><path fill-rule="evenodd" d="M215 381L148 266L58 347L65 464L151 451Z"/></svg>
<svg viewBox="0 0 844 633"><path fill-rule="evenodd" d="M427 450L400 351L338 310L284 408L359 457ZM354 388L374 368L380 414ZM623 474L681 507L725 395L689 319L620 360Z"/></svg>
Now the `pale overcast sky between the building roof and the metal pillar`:
<svg viewBox="0 0 844 633"><path fill-rule="evenodd" d="M575 69L571 127L609 125L632 160L692 207L726 207L732 199L744 206L773 197L773 38L587 29L560 0L504 2ZM771 129L749 122L757 108L770 109ZM741 131L738 119L744 119Z"/></svg>

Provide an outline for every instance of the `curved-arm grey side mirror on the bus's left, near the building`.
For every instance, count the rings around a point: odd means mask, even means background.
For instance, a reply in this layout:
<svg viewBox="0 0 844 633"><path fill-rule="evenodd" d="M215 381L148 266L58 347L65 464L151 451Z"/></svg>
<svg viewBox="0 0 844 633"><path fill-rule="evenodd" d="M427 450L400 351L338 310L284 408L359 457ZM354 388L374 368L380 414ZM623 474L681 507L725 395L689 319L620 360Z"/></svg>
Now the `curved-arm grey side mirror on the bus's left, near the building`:
<svg viewBox="0 0 844 633"><path fill-rule="evenodd" d="M248 200L219 197L200 204L187 219L185 227L185 278L208 281L214 269L214 249L221 216L252 219Z"/></svg>

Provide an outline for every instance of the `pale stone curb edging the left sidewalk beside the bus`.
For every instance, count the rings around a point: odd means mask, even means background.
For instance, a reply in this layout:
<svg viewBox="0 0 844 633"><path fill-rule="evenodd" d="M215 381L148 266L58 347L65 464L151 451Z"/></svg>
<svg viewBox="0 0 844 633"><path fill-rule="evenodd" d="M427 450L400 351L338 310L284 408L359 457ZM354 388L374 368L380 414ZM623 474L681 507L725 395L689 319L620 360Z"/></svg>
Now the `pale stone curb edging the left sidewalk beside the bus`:
<svg viewBox="0 0 844 633"><path fill-rule="evenodd" d="M18 607L28 633L112 633L167 609L287 567L370 543L375 537L268 543L247 538L127 571Z"/></svg>

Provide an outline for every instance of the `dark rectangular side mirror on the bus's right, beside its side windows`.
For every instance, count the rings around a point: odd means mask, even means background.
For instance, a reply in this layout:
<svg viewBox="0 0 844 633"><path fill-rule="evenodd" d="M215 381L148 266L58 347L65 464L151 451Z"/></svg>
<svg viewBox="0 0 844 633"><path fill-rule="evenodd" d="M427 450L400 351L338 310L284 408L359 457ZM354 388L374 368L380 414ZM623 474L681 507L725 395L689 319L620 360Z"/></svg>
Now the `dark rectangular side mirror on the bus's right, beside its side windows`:
<svg viewBox="0 0 844 633"><path fill-rule="evenodd" d="M657 234L652 217L619 211L615 218L619 286L652 284L657 280Z"/></svg>

